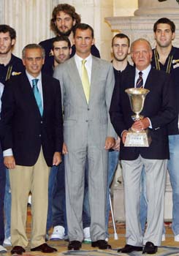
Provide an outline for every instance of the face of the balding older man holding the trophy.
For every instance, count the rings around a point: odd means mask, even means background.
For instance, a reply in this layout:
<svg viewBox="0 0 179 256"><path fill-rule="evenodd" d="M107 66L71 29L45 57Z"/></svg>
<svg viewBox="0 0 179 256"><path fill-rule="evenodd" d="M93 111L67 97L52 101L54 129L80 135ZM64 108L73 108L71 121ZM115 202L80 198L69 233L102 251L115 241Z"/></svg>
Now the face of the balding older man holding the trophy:
<svg viewBox="0 0 179 256"><path fill-rule="evenodd" d="M152 50L145 41L137 41L132 48L132 60L140 71L146 69L151 64Z"/></svg>

